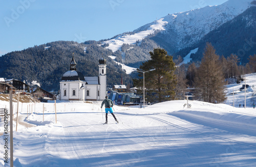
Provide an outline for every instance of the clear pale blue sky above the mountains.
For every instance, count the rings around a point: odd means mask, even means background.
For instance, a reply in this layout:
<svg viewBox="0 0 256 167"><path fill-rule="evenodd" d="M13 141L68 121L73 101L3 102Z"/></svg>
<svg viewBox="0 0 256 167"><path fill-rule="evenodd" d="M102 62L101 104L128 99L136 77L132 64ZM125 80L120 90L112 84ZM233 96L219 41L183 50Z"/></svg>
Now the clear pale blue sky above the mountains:
<svg viewBox="0 0 256 167"><path fill-rule="evenodd" d="M57 40L108 39L166 16L227 0L0 0L0 56Z"/></svg>

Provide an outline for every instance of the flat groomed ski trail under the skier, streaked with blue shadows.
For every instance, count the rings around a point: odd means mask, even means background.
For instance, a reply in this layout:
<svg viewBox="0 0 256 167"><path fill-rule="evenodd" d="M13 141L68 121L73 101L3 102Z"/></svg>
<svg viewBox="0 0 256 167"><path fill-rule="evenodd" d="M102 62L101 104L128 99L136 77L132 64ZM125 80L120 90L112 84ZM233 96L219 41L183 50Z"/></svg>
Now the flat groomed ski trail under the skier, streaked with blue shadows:
<svg viewBox="0 0 256 167"><path fill-rule="evenodd" d="M58 123L20 133L23 166L255 166L256 137L200 125L168 114L59 113ZM54 120L55 115L48 114ZM48 129L48 130L47 130ZM44 133L47 132L47 133ZM29 139L26 139L29 138ZM33 144L32 144L33 143ZM32 157L29 154L32 151Z"/></svg>

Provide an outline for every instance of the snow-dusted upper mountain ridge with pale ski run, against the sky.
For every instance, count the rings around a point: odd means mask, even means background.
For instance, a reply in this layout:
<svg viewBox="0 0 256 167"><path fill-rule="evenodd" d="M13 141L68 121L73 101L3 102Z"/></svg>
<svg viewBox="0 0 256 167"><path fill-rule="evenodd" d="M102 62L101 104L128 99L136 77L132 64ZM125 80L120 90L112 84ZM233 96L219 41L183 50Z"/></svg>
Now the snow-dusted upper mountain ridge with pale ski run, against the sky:
<svg viewBox="0 0 256 167"><path fill-rule="evenodd" d="M172 44L173 51L177 52L198 42L210 31L244 12L252 6L252 1L229 0L218 6L207 6L201 9L168 14L134 30L133 34L121 34L102 42L102 44L108 44L106 48L115 52L121 50L123 43L135 44L136 41L160 31L163 40Z"/></svg>

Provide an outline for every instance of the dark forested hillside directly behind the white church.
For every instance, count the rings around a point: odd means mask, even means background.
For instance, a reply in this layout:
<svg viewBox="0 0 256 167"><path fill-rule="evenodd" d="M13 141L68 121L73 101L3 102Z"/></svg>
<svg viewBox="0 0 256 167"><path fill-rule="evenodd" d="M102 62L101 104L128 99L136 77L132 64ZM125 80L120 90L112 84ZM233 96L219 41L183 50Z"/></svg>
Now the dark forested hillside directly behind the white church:
<svg viewBox="0 0 256 167"><path fill-rule="evenodd" d="M131 85L131 77L108 57L113 54L112 51L97 44L96 41L56 41L8 53L0 57L0 77L15 78L26 83L37 81L43 89L58 91L59 81L69 70L74 53L77 70L84 76L98 75L98 60L103 56L107 60L108 86L120 84L121 75L124 83ZM46 46L51 47L45 49Z"/></svg>

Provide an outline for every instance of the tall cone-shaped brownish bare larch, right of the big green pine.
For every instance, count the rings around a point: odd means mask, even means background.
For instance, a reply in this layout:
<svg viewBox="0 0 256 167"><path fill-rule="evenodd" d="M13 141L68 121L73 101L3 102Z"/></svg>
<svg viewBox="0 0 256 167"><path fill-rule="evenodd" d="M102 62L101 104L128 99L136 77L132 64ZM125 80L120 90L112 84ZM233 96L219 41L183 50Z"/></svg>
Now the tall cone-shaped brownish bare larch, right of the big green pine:
<svg viewBox="0 0 256 167"><path fill-rule="evenodd" d="M200 99L209 103L221 103L225 98L225 79L219 56L214 46L206 43L201 65L195 79L197 94Z"/></svg>

